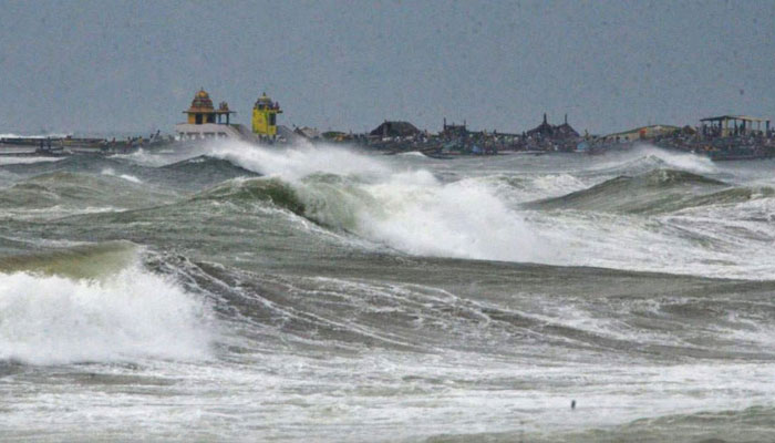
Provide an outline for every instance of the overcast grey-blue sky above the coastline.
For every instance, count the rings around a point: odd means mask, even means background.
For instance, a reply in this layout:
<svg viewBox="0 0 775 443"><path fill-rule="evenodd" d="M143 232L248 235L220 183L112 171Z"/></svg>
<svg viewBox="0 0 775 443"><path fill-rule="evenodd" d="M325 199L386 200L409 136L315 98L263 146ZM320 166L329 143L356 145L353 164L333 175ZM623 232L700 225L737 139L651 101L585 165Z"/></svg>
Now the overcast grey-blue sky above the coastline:
<svg viewBox="0 0 775 443"><path fill-rule="evenodd" d="M170 133L200 86L356 132L773 117L775 1L0 0L0 133Z"/></svg>

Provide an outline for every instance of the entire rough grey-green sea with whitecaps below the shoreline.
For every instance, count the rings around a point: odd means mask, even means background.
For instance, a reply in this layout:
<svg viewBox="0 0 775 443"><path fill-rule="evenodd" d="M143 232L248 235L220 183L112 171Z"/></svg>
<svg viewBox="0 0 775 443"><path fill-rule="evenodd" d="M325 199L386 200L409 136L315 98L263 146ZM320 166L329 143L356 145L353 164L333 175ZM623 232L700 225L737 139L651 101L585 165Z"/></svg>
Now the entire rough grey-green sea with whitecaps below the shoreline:
<svg viewBox="0 0 775 443"><path fill-rule="evenodd" d="M3 158L0 440L773 441L774 169Z"/></svg>

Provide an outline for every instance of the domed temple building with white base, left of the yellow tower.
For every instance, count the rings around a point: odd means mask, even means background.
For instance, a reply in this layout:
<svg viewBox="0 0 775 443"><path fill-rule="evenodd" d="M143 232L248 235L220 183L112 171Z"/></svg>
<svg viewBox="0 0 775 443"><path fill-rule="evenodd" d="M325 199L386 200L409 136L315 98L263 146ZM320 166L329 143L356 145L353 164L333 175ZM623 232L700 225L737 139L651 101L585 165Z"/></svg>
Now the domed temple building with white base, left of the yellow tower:
<svg viewBox="0 0 775 443"><path fill-rule="evenodd" d="M190 107L183 113L187 116L186 123L175 125L180 140L249 140L249 133L242 125L230 123L230 116L235 112L229 110L228 103L220 102L216 110L204 89L194 95Z"/></svg>

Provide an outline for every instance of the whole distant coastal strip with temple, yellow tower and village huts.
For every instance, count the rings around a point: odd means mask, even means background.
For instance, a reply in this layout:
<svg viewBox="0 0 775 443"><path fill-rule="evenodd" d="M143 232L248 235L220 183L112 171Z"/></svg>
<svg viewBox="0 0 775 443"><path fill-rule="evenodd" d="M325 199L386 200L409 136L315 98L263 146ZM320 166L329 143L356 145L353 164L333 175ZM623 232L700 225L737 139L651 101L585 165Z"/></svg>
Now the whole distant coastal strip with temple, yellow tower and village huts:
<svg viewBox="0 0 775 443"><path fill-rule="evenodd" d="M125 140L83 137L4 137L0 155L73 155L127 153L140 148L154 150L176 144L231 138L249 143L282 146L300 140L310 143L344 144L382 154L421 152L440 158L463 155L498 155L517 152L604 154L648 143L659 147L707 155L713 159L750 159L775 157L775 128L768 119L747 115L721 115L700 119L695 126L649 125L606 134L579 134L568 122L552 124L544 114L535 127L521 133L473 131L466 122L442 120L438 133L420 131L410 122L384 121L368 133L321 132L313 127L278 124L282 113L279 103L262 94L251 110L250 126L231 122L235 112L228 103L215 107L204 90L195 93L184 111L186 121L175 126L174 135L161 132Z"/></svg>

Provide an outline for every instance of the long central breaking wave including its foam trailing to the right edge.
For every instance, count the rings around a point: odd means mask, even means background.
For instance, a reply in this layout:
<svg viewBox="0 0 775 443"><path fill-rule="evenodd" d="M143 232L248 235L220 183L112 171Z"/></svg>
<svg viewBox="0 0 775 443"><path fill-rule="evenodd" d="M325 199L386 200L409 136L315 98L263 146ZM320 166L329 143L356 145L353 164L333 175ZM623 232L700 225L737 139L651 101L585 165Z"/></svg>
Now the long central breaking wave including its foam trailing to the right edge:
<svg viewBox="0 0 775 443"><path fill-rule="evenodd" d="M209 155L266 177L230 181L204 193L217 196L214 202L261 202L412 255L757 279L772 271L744 259L765 254L772 228L710 214L767 219L773 189L735 187L662 167L662 161L655 163L660 167L588 186L585 182L595 177L496 174L444 181L416 165L341 148L225 144L219 152L218 146ZM571 192L551 197L562 189ZM533 192L550 197L523 203Z"/></svg>

